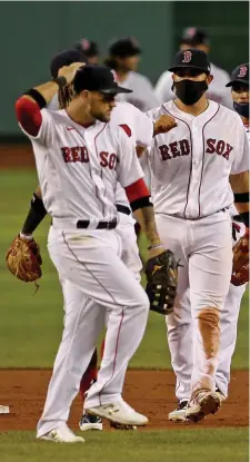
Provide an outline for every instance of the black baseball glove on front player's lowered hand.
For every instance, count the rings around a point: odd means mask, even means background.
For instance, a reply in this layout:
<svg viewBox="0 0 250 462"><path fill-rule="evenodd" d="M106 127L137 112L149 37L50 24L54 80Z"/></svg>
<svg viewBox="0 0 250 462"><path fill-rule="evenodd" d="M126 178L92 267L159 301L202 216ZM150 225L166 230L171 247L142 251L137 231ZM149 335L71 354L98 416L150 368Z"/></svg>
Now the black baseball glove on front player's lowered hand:
<svg viewBox="0 0 250 462"><path fill-rule="evenodd" d="M178 266L179 263L171 250L164 250L147 262L146 292L151 311L163 315L172 313L177 295Z"/></svg>

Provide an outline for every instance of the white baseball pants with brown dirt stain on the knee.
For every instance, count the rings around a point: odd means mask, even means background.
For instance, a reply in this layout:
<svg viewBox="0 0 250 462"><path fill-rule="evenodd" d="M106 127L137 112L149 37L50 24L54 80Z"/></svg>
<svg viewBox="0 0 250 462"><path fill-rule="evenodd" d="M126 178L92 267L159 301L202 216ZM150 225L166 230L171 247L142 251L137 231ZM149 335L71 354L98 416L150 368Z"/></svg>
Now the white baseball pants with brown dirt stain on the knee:
<svg viewBox="0 0 250 462"><path fill-rule="evenodd" d="M227 210L198 220L159 214L157 227L163 244L183 265L167 327L177 395L189 399L197 390L216 389L219 317L232 267L231 222Z"/></svg>

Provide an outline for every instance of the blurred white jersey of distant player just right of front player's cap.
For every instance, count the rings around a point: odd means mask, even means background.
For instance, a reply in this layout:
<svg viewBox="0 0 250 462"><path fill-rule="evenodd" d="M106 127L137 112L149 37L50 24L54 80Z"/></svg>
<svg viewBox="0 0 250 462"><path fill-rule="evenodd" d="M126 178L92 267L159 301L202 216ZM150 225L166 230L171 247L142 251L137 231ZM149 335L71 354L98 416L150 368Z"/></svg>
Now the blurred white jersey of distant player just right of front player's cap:
<svg viewBox="0 0 250 462"><path fill-rule="evenodd" d="M118 101L130 102L143 112L159 106L160 100L154 95L150 80L141 73L130 71L120 85L132 90L132 94L119 94Z"/></svg>

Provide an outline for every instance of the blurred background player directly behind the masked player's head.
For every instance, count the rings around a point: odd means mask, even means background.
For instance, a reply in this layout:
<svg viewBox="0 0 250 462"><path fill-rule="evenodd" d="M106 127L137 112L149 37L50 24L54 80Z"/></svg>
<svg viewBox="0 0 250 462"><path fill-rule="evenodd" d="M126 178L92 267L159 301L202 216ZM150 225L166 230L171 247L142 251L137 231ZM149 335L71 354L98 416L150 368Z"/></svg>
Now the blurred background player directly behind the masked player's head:
<svg viewBox="0 0 250 462"><path fill-rule="evenodd" d="M203 30L194 27L184 29L180 41L180 50L189 48L197 48L209 55L210 40L208 35ZM229 81L228 72L211 63L211 75L213 76L213 80L208 89L208 98L232 109L230 91L226 88L226 83ZM172 76L169 70L166 70L159 78L154 94L160 102L167 102L174 98Z"/></svg>

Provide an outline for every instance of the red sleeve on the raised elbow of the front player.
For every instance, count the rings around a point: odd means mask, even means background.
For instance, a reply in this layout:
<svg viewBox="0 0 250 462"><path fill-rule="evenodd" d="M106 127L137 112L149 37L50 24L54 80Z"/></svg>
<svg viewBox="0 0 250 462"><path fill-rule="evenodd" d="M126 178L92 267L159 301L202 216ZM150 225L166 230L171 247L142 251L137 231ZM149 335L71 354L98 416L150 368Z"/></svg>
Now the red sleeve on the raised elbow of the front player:
<svg viewBox="0 0 250 462"><path fill-rule="evenodd" d="M31 136L37 136L42 124L40 107L36 101L22 96L16 101L16 115L19 124Z"/></svg>

